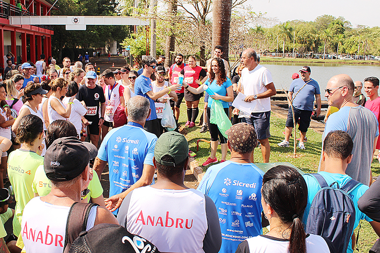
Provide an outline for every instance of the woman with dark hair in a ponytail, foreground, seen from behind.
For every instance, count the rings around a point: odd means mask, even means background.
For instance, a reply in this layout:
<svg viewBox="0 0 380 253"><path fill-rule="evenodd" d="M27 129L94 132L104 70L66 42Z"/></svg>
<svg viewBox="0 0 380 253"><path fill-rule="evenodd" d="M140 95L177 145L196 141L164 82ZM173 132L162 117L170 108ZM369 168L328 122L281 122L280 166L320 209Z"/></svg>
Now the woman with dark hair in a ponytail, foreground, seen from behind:
<svg viewBox="0 0 380 253"><path fill-rule="evenodd" d="M261 203L270 229L266 235L239 244L236 253L330 253L334 248L321 236L306 234L302 216L308 189L294 168L279 165L264 174Z"/></svg>

